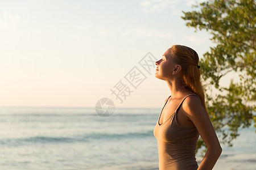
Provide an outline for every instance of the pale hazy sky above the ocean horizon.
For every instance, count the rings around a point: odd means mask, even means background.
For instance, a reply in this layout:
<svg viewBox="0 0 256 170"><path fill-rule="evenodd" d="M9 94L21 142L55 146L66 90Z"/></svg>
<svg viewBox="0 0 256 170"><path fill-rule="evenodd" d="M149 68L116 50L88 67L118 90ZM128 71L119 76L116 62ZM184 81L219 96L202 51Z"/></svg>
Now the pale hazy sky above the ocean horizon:
<svg viewBox="0 0 256 170"><path fill-rule="evenodd" d="M203 57L209 33L181 19L196 2L0 1L0 106L95 107L108 98L120 108L162 107L166 82L139 62L174 44ZM121 87L130 90L122 101L112 92Z"/></svg>

